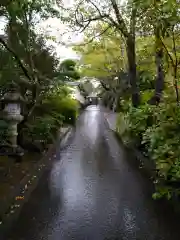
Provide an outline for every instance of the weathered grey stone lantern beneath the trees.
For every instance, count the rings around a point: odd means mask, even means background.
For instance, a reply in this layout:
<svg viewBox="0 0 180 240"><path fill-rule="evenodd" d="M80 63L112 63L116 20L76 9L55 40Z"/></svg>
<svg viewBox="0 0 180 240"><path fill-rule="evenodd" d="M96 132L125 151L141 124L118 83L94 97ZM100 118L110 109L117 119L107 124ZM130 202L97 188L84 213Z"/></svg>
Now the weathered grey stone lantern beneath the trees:
<svg viewBox="0 0 180 240"><path fill-rule="evenodd" d="M21 115L21 103L24 102L24 99L20 95L17 85L14 83L9 85L9 90L2 98L2 102L5 106L3 119L8 122L8 140L11 148L7 151L7 155L22 156L24 152L17 145L17 125L24 118Z"/></svg>

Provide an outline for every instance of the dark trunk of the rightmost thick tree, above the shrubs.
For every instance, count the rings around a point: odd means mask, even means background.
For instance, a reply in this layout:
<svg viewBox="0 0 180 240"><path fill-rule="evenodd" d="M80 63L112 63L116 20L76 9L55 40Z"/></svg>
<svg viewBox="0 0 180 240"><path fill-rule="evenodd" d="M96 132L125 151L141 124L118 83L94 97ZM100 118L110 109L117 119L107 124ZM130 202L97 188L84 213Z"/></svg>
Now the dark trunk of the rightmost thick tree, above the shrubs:
<svg viewBox="0 0 180 240"><path fill-rule="evenodd" d="M163 46L160 42L160 29L157 27L155 30L155 47L156 47L156 82L154 96L149 100L149 104L158 105L163 94L164 89L164 69L163 69Z"/></svg>

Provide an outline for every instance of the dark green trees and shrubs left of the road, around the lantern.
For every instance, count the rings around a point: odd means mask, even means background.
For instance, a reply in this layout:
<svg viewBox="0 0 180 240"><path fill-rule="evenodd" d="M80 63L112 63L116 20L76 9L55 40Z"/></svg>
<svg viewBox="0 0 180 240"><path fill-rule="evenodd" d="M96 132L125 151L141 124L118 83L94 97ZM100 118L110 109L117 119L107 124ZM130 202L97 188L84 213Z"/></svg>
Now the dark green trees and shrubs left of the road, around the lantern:
<svg viewBox="0 0 180 240"><path fill-rule="evenodd" d="M77 102L66 81L79 79L76 62L58 59L48 47L45 33L36 25L49 17L60 18L53 0L14 0L0 3L0 17L7 22L0 36L0 96L16 85L25 99L18 125L18 144L42 151L64 124L74 124ZM1 110L4 105L1 104ZM0 122L1 144L8 144L8 124Z"/></svg>

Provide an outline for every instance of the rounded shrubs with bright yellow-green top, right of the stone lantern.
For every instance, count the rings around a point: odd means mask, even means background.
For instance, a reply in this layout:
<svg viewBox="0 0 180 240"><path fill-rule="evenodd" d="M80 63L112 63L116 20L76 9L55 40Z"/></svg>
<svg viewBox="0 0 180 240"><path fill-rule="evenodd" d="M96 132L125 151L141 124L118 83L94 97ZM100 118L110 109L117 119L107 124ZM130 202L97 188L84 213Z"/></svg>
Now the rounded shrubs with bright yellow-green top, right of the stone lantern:
<svg viewBox="0 0 180 240"><path fill-rule="evenodd" d="M67 95L62 99L60 95L52 93L43 99L42 105L34 113L35 116L22 128L22 144L27 149L36 147L41 151L48 143L52 143L63 124L75 123L78 103Z"/></svg>

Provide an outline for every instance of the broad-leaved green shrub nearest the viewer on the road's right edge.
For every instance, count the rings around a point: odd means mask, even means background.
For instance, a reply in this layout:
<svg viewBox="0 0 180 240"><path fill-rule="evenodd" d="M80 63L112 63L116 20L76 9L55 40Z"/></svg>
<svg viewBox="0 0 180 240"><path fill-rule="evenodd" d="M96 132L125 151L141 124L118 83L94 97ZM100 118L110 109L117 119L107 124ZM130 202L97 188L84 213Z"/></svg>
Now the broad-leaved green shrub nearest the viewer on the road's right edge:
<svg viewBox="0 0 180 240"><path fill-rule="evenodd" d="M156 163L159 177L180 181L180 108L177 104L157 107L156 124L143 134L149 155Z"/></svg>

